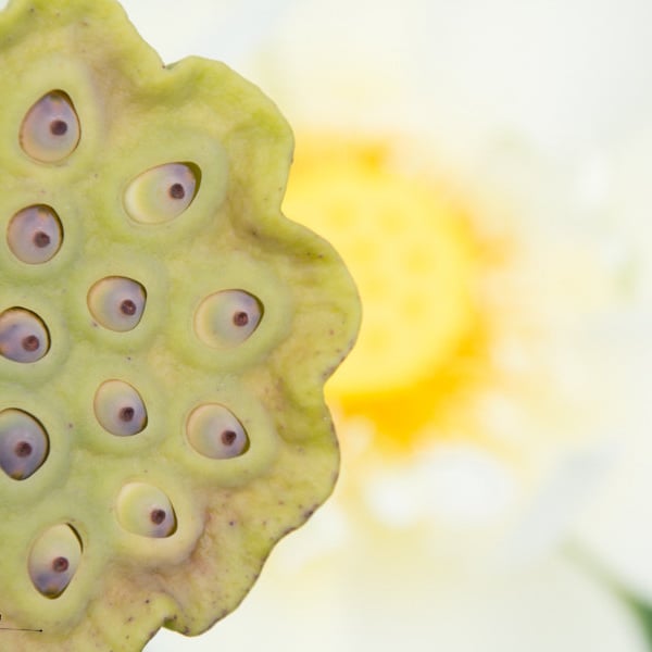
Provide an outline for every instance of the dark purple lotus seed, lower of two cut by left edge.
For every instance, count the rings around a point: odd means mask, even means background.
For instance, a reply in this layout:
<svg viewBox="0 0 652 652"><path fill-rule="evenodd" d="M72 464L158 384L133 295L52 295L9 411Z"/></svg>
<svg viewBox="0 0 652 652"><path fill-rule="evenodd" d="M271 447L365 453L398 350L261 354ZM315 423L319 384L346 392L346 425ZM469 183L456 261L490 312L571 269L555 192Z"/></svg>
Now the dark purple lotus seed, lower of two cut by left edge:
<svg viewBox="0 0 652 652"><path fill-rule="evenodd" d="M48 456L50 440L30 414L10 408L0 412L0 467L14 480L25 480Z"/></svg>

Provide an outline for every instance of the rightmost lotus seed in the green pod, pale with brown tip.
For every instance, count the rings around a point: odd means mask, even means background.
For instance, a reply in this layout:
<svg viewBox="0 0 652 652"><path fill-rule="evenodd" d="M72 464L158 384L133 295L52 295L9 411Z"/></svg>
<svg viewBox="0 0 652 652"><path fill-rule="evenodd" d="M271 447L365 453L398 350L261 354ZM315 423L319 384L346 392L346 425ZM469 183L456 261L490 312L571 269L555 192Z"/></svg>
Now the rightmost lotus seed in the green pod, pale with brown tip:
<svg viewBox="0 0 652 652"><path fill-rule="evenodd" d="M206 297L195 313L195 331L209 347L236 347L263 318L262 303L243 290L222 290Z"/></svg>

